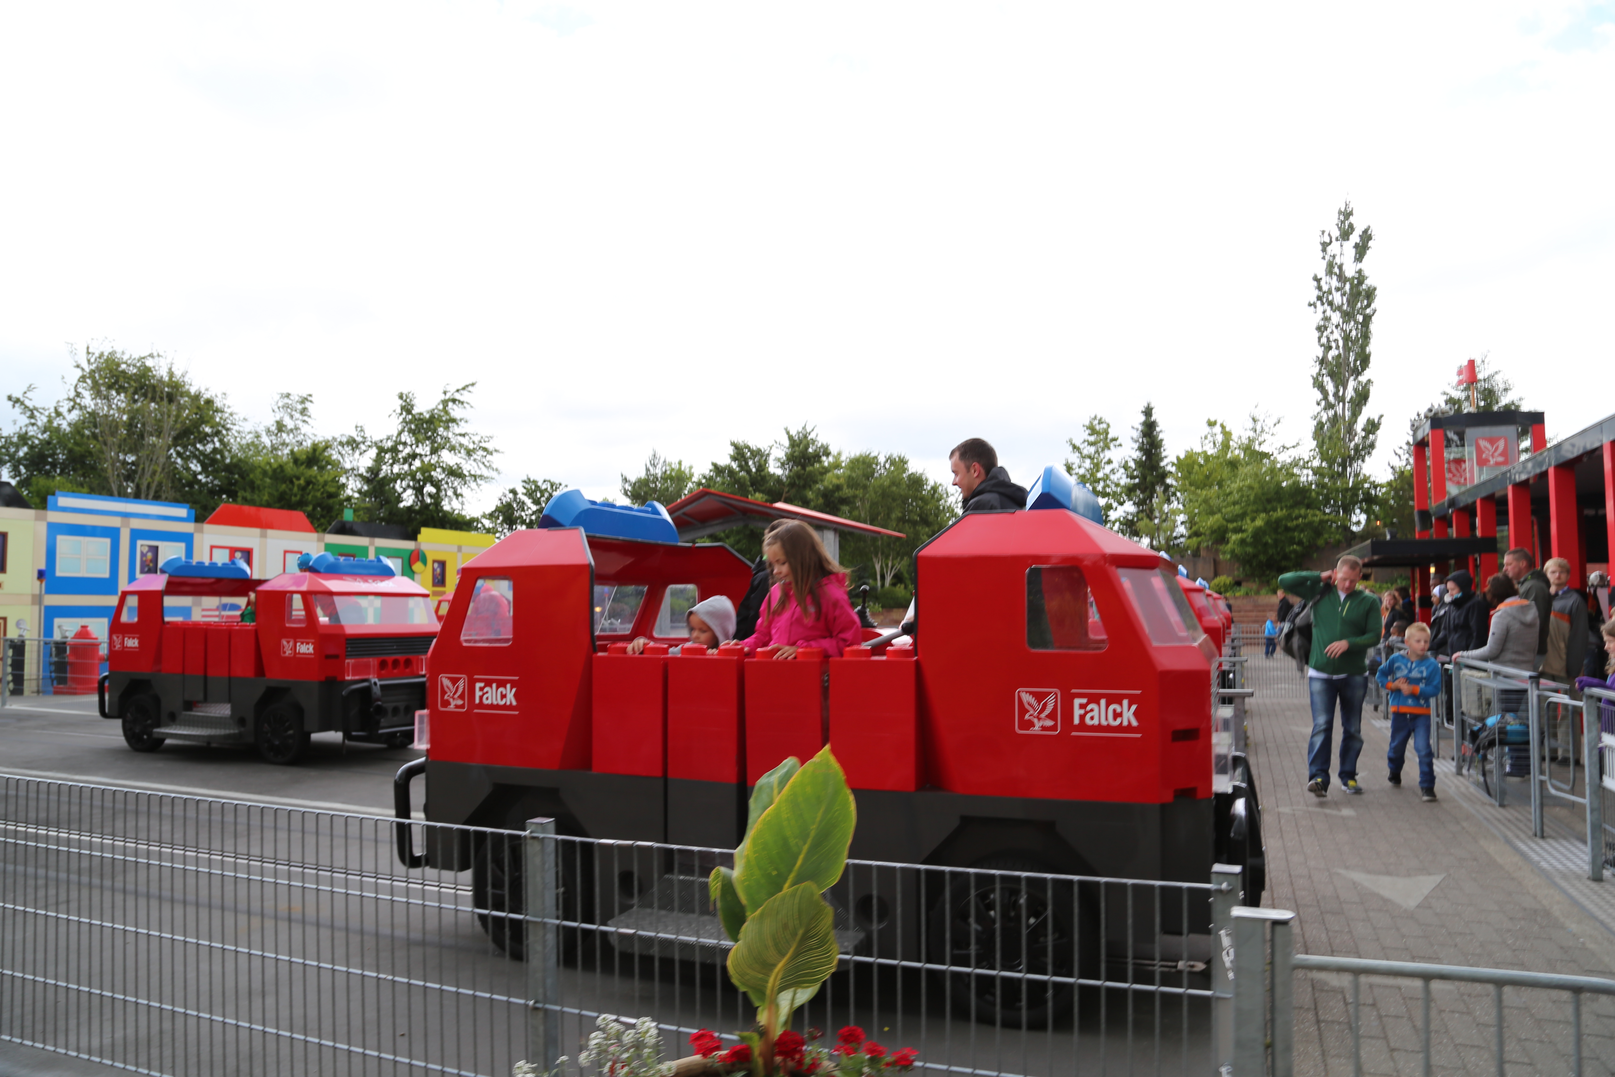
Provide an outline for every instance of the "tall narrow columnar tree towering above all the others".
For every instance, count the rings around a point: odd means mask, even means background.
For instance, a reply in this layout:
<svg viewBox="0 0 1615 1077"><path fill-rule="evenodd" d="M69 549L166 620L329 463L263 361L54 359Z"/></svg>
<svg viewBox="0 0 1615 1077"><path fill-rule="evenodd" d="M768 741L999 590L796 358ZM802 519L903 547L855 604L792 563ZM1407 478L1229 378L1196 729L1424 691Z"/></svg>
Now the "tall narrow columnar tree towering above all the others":
<svg viewBox="0 0 1615 1077"><path fill-rule="evenodd" d="M1313 360L1318 478L1329 513L1347 522L1347 530L1363 518L1376 492L1368 478L1368 459L1379 442L1381 418L1365 415L1374 388L1368 365L1379 294L1363 270L1373 241L1374 229L1365 224L1358 231L1352 203L1342 205L1334 233L1318 234L1323 274L1313 276L1313 299L1307 304L1318 315L1318 355Z"/></svg>

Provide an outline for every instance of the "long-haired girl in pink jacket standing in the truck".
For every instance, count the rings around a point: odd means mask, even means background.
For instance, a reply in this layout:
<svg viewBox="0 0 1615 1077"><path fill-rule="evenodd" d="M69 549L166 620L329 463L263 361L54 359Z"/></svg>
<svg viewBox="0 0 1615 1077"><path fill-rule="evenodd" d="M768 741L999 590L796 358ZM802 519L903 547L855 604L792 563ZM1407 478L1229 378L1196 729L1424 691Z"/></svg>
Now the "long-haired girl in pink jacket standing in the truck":
<svg viewBox="0 0 1615 1077"><path fill-rule="evenodd" d="M822 647L838 659L862 643L858 614L846 597L846 570L835 564L817 531L791 520L764 538L762 555L778 583L762 604L757 631L741 639L748 652L780 647L774 654L778 660L796 657L798 647Z"/></svg>

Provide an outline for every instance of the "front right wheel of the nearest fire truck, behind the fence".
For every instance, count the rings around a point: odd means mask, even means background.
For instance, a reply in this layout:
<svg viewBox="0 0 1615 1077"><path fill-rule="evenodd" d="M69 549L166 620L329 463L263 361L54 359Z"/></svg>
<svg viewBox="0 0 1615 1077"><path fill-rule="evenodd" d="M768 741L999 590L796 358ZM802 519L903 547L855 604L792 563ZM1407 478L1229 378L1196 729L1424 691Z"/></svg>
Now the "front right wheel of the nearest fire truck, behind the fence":
<svg viewBox="0 0 1615 1077"><path fill-rule="evenodd" d="M945 974L959 1017L1043 1029L1072 1009L1076 988L1024 977L1074 977L1080 951L1082 975L1092 979L1100 967L1098 932L1082 930L1079 945L1079 903L1071 885L1024 878L1021 872L1051 869L1027 857L992 856L969 872L950 872L930 912L927 949L932 962L959 969ZM1087 928L1092 903L1080 904Z"/></svg>

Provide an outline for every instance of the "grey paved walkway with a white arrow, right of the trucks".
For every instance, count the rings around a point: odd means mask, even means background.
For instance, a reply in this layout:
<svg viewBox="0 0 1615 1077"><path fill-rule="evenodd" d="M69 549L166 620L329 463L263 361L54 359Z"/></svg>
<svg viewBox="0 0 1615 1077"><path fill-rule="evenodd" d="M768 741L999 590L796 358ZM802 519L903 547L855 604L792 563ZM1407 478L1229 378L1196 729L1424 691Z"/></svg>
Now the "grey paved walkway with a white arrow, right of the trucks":
<svg viewBox="0 0 1615 1077"><path fill-rule="evenodd" d="M1263 904L1297 912L1298 953L1615 979L1615 882L1586 882L1583 854L1563 835L1531 838L1523 796L1499 809L1449 764L1437 773L1441 801L1424 804L1412 759L1407 785L1386 782L1387 728L1365 720L1365 793L1349 796L1331 777L1329 796L1315 798L1305 791L1305 683L1282 657L1258 654L1250 667L1250 759L1269 864ZM1347 975L1297 977L1297 1074L1352 1074L1350 998ZM1504 1012L1508 1074L1571 1072L1567 995L1508 988ZM1418 982L1363 979L1363 1072L1421 1072L1420 1014ZM1583 1072L1615 1072L1615 999L1584 996L1581 1024ZM1437 983L1433 1072L1497 1072L1494 1029L1491 987Z"/></svg>

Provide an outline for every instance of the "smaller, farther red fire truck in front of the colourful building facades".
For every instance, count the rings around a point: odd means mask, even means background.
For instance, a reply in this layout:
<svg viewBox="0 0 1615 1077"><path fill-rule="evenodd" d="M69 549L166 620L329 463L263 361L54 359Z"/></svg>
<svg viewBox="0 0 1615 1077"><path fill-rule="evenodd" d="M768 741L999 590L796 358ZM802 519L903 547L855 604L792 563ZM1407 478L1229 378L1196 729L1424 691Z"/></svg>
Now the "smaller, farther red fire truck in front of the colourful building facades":
<svg viewBox="0 0 1615 1077"><path fill-rule="evenodd" d="M255 623L165 620L165 597L254 596ZM310 733L404 748L438 636L430 593L384 560L318 554L254 580L244 562L171 557L123 589L100 714L141 752L166 740L252 744L291 764Z"/></svg>

